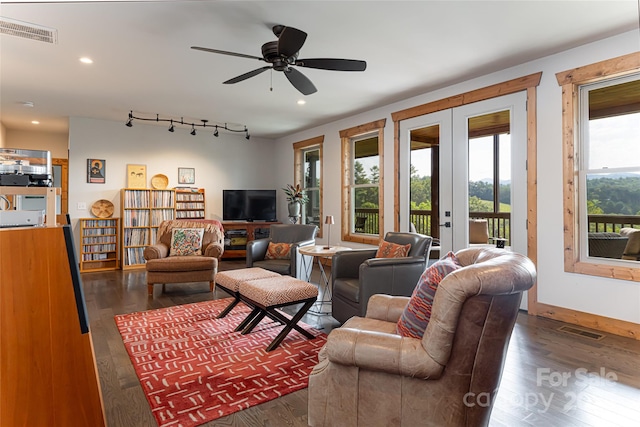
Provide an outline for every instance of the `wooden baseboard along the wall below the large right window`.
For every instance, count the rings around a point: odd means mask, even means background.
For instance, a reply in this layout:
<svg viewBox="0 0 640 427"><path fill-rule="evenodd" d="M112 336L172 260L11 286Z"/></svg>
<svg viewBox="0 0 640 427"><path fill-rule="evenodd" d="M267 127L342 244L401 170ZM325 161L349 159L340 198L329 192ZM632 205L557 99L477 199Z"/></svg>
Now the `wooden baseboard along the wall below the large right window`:
<svg viewBox="0 0 640 427"><path fill-rule="evenodd" d="M640 341L640 324L637 323L542 303L536 304L536 315Z"/></svg>

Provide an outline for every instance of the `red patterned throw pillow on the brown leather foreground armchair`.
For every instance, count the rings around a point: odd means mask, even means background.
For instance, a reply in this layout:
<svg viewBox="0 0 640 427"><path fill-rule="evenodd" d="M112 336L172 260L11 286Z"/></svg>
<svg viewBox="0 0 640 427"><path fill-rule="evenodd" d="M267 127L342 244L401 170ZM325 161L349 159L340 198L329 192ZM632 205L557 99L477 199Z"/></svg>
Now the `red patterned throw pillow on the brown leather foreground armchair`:
<svg viewBox="0 0 640 427"><path fill-rule="evenodd" d="M396 326L398 334L403 337L422 339L431 319L431 307L438 285L447 274L460 267L456 255L449 252L422 273L409 304L398 319Z"/></svg>

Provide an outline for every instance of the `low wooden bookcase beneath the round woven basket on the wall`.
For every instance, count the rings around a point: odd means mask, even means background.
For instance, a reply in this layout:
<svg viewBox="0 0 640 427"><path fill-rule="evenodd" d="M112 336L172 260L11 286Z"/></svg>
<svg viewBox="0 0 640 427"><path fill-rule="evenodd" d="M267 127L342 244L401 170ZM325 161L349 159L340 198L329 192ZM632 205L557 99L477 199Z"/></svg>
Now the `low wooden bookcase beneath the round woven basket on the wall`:
<svg viewBox="0 0 640 427"><path fill-rule="evenodd" d="M80 218L80 271L120 268L120 218Z"/></svg>

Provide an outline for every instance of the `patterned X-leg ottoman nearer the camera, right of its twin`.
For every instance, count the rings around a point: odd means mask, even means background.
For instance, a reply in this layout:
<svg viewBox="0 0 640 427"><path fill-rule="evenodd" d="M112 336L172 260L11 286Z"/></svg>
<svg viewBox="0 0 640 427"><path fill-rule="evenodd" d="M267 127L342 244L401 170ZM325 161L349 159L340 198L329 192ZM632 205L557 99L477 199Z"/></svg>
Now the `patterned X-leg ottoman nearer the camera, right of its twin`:
<svg viewBox="0 0 640 427"><path fill-rule="evenodd" d="M318 288L311 283L291 276L269 277L241 282L238 292L240 299L252 306L253 311L238 325L236 331L242 331L243 335L248 334L265 316L285 325L267 346L267 351L278 347L292 329L308 339L315 338L310 332L298 326L298 321L318 299ZM276 310L300 303L302 306L290 319Z"/></svg>

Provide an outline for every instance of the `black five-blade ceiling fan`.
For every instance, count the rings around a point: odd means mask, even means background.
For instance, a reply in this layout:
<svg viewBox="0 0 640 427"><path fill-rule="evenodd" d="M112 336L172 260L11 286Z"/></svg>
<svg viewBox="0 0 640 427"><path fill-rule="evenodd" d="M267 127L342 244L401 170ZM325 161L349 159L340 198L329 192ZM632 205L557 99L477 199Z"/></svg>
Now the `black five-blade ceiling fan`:
<svg viewBox="0 0 640 427"><path fill-rule="evenodd" d="M191 49L220 53L223 55L239 56L241 58L257 59L258 61L264 61L271 64L229 79L224 82L224 84L238 83L250 77L257 76L264 71L273 69L284 72L284 75L293 87L304 95L311 95L312 93L315 93L317 89L313 83L311 83L311 80L309 80L300 71L293 68L293 66L334 71L364 71L367 68L367 63L365 61L359 61L356 59L298 59L298 53L307 39L307 33L298 30L297 28L285 27L284 25L275 25L273 27L273 33L278 37L278 40L267 42L262 45L262 58L259 56L209 49L206 47L191 46Z"/></svg>

